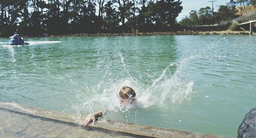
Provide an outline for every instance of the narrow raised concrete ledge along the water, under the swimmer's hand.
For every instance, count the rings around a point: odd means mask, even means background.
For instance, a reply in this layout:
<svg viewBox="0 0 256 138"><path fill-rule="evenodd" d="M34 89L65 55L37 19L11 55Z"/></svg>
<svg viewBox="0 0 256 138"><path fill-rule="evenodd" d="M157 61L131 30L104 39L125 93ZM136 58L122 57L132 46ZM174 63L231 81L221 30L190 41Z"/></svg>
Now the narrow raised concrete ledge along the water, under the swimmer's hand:
<svg viewBox="0 0 256 138"><path fill-rule="evenodd" d="M42 120L54 120L57 122L72 123L74 126L79 126L77 120L83 117L77 117L74 114L68 114L58 111L45 110L35 107L30 107L14 102L0 101L0 109L9 112L22 114L32 118L40 118ZM173 130L166 128L159 128L153 126L146 126L133 123L122 123L118 121L98 121L95 125L89 127L97 128L102 131L117 132L119 134L130 134L134 137L225 137L218 135L209 135L202 133L195 133L189 131ZM95 132L97 133L97 132Z"/></svg>

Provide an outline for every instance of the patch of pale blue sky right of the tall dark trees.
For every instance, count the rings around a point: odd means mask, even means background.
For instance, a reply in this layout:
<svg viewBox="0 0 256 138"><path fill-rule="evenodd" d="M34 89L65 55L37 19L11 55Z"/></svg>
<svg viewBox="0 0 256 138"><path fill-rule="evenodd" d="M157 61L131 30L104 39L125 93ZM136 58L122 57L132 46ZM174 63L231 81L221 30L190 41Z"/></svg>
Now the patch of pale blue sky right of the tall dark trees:
<svg viewBox="0 0 256 138"><path fill-rule="evenodd" d="M183 10L177 17L177 21L180 21L181 18L185 17L186 15L189 15L189 12L191 10L198 11L202 7L209 6L212 7L211 2L208 0L180 0L182 1L181 6L183 7ZM210 0L212 1L212 0ZM217 2L214 2L214 11L218 10L220 5L226 5L226 3L230 2L230 0L216 0Z"/></svg>

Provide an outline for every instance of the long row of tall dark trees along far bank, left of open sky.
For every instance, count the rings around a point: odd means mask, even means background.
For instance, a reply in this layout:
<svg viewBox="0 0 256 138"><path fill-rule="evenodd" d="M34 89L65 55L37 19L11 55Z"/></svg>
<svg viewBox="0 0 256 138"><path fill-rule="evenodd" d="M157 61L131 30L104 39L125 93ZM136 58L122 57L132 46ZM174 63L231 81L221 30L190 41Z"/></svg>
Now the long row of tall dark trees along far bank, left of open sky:
<svg viewBox="0 0 256 138"><path fill-rule="evenodd" d="M179 0L1 0L0 33L170 31L181 10Z"/></svg>

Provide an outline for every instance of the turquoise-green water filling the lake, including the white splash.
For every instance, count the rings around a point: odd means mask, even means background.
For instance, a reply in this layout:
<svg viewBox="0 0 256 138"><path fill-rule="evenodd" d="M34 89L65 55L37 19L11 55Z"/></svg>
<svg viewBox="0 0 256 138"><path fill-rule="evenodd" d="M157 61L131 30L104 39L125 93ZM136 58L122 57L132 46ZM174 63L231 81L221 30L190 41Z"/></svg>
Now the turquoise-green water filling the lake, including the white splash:
<svg viewBox="0 0 256 138"><path fill-rule="evenodd" d="M0 39L0 100L102 119L237 136L255 107L256 36ZM139 107L121 108L131 86Z"/></svg>

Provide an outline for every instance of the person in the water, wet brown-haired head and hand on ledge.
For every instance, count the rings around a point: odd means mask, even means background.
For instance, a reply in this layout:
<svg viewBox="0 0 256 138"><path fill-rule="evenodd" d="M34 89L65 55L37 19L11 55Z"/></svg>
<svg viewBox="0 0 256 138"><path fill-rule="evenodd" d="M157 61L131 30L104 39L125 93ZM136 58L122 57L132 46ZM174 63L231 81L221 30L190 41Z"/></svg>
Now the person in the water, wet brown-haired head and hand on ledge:
<svg viewBox="0 0 256 138"><path fill-rule="evenodd" d="M124 86L119 90L119 102L120 106L128 106L137 102L136 93L133 88ZM87 118L82 120L81 126L88 126L90 123L94 123L96 119L101 117L102 110L91 113Z"/></svg>

